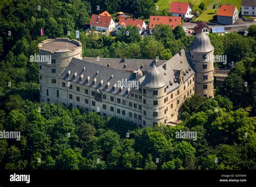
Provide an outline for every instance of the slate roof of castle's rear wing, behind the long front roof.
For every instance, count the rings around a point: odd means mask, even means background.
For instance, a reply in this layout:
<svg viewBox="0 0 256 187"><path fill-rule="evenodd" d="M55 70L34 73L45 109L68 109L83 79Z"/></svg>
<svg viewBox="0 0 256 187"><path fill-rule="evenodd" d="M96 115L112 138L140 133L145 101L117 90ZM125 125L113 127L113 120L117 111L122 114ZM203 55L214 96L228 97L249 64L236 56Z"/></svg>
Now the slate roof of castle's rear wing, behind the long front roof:
<svg viewBox="0 0 256 187"><path fill-rule="evenodd" d="M145 60L145 59L111 59L111 58L99 58L97 57L84 57L84 60L92 63L97 63L102 66L107 67L109 65L110 68L120 69L124 71L133 72L134 70L139 69L142 70L144 74L150 69L150 67L155 63L154 60ZM157 64L163 64L166 60L158 60ZM143 65L143 67L142 67Z"/></svg>

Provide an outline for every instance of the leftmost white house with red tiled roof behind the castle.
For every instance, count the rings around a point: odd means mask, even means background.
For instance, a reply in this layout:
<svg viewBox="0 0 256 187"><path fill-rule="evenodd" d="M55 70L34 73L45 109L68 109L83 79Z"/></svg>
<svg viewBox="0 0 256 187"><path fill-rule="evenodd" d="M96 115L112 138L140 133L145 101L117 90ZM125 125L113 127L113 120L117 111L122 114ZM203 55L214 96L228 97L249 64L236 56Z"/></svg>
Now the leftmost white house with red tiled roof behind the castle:
<svg viewBox="0 0 256 187"><path fill-rule="evenodd" d="M100 15L92 14L92 17L90 19L91 30L107 32L115 28L113 18L111 16L108 16L107 13L103 12ZM103 16L102 14L106 16Z"/></svg>

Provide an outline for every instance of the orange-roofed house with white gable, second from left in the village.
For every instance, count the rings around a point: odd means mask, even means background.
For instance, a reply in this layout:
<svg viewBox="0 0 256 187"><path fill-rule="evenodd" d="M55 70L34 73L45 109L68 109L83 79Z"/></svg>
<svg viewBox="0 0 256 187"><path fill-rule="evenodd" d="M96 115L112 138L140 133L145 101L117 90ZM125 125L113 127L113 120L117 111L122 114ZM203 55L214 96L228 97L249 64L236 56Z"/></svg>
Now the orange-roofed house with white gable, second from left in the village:
<svg viewBox="0 0 256 187"><path fill-rule="evenodd" d="M136 26L139 34L142 34L146 30L146 23L143 19L119 17L118 25L116 26L117 34L123 27L128 25L132 27Z"/></svg>

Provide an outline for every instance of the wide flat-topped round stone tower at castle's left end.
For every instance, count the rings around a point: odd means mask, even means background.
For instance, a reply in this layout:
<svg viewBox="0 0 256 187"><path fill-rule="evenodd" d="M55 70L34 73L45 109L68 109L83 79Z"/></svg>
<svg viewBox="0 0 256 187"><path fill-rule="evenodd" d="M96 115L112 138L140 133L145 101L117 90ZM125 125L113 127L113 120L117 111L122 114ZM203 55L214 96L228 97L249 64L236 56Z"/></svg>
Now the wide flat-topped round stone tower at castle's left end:
<svg viewBox="0 0 256 187"><path fill-rule="evenodd" d="M56 38L38 44L40 100L58 103L58 88L62 81L58 78L72 57L82 59L82 44L77 40Z"/></svg>

